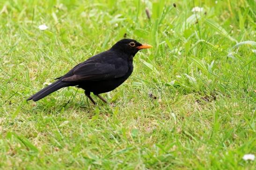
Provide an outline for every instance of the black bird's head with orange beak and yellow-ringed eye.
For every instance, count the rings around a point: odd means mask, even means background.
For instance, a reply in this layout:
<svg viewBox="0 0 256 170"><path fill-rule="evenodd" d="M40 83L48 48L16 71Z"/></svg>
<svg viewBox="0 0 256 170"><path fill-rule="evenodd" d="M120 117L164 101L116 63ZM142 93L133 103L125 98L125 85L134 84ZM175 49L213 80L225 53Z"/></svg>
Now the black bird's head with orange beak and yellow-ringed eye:
<svg viewBox="0 0 256 170"><path fill-rule="evenodd" d="M134 56L140 49L144 48L152 48L152 46L148 44L141 44L138 41L132 39L123 39L113 45L111 49Z"/></svg>

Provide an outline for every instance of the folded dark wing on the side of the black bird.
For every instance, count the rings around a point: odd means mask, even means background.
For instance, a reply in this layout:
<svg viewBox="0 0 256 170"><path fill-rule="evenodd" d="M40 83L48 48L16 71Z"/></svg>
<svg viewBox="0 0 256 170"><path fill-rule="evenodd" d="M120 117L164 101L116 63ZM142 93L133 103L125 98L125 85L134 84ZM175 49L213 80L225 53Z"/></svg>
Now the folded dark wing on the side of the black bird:
<svg viewBox="0 0 256 170"><path fill-rule="evenodd" d="M63 82L84 82L107 80L124 76L128 72L128 65L122 62L115 64L90 62L73 70L73 75L62 79Z"/></svg>

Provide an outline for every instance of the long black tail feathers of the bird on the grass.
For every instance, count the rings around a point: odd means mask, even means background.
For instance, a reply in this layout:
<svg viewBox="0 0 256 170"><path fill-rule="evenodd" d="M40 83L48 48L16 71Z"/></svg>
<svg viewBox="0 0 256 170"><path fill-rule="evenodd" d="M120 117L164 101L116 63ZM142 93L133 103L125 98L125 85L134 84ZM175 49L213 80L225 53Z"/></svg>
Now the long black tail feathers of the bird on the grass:
<svg viewBox="0 0 256 170"><path fill-rule="evenodd" d="M52 92L55 92L59 90L60 88L64 88L70 86L70 82L61 82L61 80L58 80L49 86L43 88L42 90L38 91L35 95L30 96L27 101L33 100L33 101L38 101L42 98L44 98L47 95L50 95Z"/></svg>

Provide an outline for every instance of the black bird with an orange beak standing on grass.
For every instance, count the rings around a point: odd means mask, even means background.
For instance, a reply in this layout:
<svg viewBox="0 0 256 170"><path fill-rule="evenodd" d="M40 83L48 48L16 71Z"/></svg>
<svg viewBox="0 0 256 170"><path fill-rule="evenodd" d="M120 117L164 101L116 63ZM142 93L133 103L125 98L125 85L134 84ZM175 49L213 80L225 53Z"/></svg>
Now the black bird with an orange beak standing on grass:
<svg viewBox="0 0 256 170"><path fill-rule="evenodd" d="M94 104L91 92L106 102L99 94L120 86L132 74L132 60L135 54L140 49L151 47L132 39L120 40L109 50L76 65L66 75L55 79L56 82L32 95L27 101L36 102L60 88L76 86L84 89L85 95Z"/></svg>

